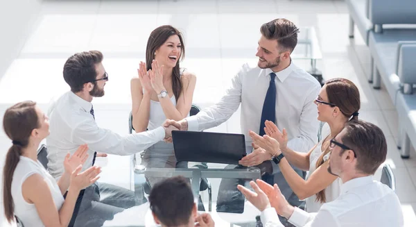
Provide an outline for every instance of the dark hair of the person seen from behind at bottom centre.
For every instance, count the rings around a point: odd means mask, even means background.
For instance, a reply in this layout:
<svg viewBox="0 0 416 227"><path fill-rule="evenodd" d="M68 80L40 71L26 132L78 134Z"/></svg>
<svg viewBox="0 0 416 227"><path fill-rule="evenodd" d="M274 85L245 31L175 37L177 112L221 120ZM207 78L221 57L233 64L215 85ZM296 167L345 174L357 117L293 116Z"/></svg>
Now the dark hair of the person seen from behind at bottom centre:
<svg viewBox="0 0 416 227"><path fill-rule="evenodd" d="M183 176L167 178L153 185L150 209L166 226L188 224L194 201L191 186Z"/></svg>

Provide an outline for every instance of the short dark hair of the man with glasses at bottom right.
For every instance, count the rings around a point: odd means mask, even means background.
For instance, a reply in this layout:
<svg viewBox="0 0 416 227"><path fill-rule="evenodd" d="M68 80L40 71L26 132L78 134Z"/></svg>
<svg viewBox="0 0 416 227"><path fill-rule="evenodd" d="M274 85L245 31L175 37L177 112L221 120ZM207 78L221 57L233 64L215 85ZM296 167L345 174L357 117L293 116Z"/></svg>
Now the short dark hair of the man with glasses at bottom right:
<svg viewBox="0 0 416 227"><path fill-rule="evenodd" d="M348 121L344 130L346 133L341 140L356 153L356 169L363 174L374 174L387 155L383 131L378 126L361 120Z"/></svg>

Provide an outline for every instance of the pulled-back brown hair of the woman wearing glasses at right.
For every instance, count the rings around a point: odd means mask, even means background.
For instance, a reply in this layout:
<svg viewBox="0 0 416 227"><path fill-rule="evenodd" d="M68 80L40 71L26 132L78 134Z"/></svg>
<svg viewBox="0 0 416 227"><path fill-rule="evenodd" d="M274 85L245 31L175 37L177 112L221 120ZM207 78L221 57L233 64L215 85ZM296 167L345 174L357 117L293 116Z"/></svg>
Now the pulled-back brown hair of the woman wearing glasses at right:
<svg viewBox="0 0 416 227"><path fill-rule="evenodd" d="M329 103L333 103L349 121L358 120L358 110L361 108L360 92L354 83L345 78L333 78L325 83ZM334 135L335 136L335 135ZM324 152L320 155L316 168L324 164L324 156L329 153L329 140L322 144ZM325 190L316 194L316 201L325 203Z"/></svg>

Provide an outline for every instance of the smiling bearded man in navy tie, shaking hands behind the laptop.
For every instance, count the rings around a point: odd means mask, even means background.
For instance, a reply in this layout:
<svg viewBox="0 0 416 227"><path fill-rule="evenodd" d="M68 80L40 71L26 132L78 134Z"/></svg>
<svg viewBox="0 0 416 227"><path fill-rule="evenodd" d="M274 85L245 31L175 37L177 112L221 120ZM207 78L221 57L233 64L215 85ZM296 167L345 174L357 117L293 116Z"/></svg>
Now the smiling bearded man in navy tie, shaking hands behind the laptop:
<svg viewBox="0 0 416 227"><path fill-rule="evenodd" d="M260 28L259 47L256 56L258 62L243 65L232 78L232 85L225 96L214 106L206 108L198 115L187 117L182 121L171 121L180 125L181 130L202 131L218 126L227 121L241 104L241 133L245 135L246 151L251 156L271 156L262 149L254 148L249 131L264 135L266 119L275 122L279 128L288 130L288 146L295 151L309 151L318 142L318 113L313 100L320 91L320 83L310 74L300 69L291 61L291 53L297 44L298 28L287 19L274 19L263 24ZM263 160L266 160L264 158ZM279 184L283 194L293 205L300 201L284 179L281 171L274 162L272 166L274 182ZM252 158L250 166L261 162ZM302 171L295 169L300 176ZM273 177L273 176L272 176ZM222 198L241 198L230 191L236 190L237 182L222 180L218 200ZM231 188L230 188L231 187ZM229 190L224 190L225 188ZM224 194L222 194L224 192ZM224 195L224 196L223 196ZM225 208L232 207L232 201L224 204ZM217 211L222 210L217 203Z"/></svg>

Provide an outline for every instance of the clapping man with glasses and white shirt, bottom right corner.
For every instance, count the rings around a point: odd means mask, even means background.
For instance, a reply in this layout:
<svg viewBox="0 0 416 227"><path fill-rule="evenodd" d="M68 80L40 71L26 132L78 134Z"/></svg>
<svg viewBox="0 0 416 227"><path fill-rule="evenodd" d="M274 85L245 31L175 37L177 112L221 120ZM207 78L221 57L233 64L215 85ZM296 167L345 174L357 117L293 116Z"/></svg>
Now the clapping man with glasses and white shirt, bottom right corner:
<svg viewBox="0 0 416 227"><path fill-rule="evenodd" d="M270 146L279 142L266 137ZM365 121L349 121L331 140L328 171L343 181L335 201L322 205L317 213L308 213L289 205L279 187L262 180L250 185L255 192L239 185L245 197L261 210L261 221L268 227L283 226L277 214L295 226L309 227L401 227L403 213L397 195L372 176L384 162L387 144L383 131Z"/></svg>

